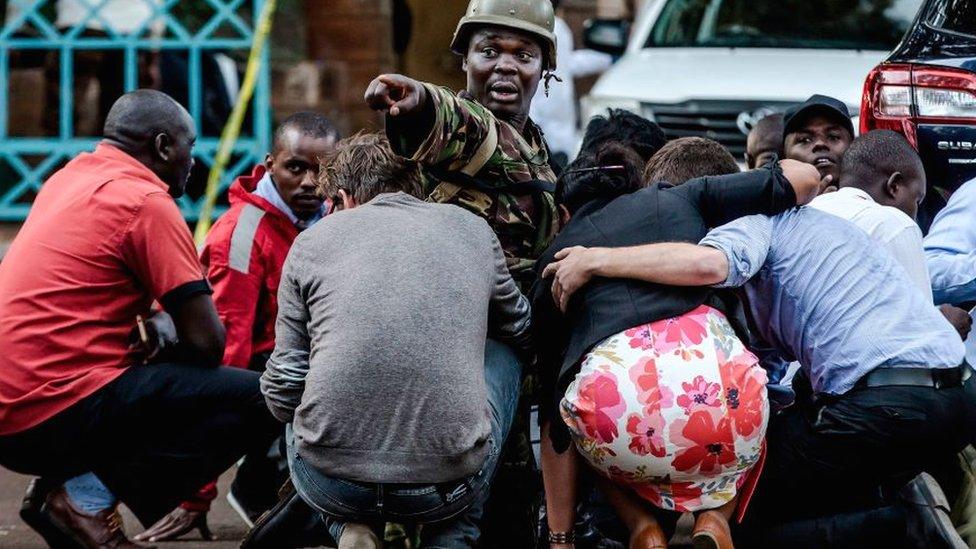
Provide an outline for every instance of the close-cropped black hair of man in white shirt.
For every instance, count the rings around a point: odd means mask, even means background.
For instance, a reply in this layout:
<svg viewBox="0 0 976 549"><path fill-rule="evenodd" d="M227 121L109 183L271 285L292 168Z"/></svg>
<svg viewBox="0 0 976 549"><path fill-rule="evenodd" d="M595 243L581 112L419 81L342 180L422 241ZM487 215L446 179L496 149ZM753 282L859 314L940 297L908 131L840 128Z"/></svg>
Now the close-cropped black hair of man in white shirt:
<svg viewBox="0 0 976 549"><path fill-rule="evenodd" d="M922 159L904 136L892 130L871 130L859 135L841 159L841 177L854 182L910 169L924 170Z"/></svg>

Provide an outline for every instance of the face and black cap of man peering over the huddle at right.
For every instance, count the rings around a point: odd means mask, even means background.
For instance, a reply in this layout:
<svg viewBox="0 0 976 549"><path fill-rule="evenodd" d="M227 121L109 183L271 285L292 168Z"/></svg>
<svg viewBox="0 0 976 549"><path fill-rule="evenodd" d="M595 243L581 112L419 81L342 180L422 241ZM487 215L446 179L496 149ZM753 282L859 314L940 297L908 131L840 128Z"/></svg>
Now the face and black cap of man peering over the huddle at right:
<svg viewBox="0 0 976 549"><path fill-rule="evenodd" d="M847 105L833 97L812 95L787 109L783 122L784 156L813 164L824 189L836 187L841 158L854 140Z"/></svg>

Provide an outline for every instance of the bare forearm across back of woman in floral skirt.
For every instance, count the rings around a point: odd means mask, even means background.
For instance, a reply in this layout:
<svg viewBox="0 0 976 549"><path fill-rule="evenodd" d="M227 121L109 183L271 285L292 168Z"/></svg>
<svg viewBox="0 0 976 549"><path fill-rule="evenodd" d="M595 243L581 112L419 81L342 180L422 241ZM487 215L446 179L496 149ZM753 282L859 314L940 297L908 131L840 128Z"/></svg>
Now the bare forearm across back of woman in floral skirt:
<svg viewBox="0 0 976 549"><path fill-rule="evenodd" d="M729 273L725 254L683 242L593 248L593 276L631 278L671 286L708 286Z"/></svg>

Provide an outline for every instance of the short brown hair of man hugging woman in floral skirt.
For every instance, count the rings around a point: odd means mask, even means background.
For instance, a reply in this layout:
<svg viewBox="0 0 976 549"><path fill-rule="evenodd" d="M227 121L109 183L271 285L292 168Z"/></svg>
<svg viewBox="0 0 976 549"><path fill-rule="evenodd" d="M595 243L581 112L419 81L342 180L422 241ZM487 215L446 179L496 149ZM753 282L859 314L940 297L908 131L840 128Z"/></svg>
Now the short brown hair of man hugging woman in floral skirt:
<svg viewBox="0 0 976 549"><path fill-rule="evenodd" d="M680 185L699 177L738 172L735 158L721 143L703 137L682 137L662 147L647 162L644 185Z"/></svg>

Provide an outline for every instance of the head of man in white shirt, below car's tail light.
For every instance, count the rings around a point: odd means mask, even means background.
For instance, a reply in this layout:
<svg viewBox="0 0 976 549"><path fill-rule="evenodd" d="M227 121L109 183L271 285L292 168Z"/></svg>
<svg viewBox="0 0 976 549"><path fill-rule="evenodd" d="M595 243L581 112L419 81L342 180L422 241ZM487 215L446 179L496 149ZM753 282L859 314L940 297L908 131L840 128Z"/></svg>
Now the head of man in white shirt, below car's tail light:
<svg viewBox="0 0 976 549"><path fill-rule="evenodd" d="M925 168L901 134L873 130L851 142L841 162L841 187L856 187L879 204L914 218L925 198Z"/></svg>

